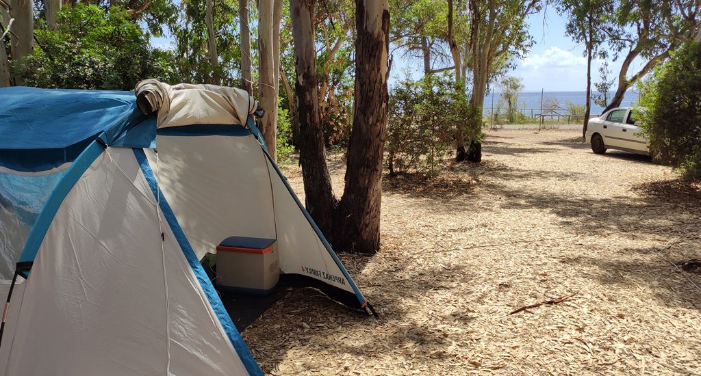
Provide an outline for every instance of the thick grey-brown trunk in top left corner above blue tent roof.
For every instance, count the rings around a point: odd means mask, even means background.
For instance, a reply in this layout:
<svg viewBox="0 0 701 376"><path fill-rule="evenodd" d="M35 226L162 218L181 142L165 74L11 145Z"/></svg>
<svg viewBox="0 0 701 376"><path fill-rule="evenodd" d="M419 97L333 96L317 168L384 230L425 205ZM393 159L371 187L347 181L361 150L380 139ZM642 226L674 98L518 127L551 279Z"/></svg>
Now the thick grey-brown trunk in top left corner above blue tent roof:
<svg viewBox="0 0 701 376"><path fill-rule="evenodd" d="M32 0L11 0L10 16L15 19L12 24L11 53L12 60L17 62L34 50L34 8ZM16 85L22 85L21 78L15 80Z"/></svg>

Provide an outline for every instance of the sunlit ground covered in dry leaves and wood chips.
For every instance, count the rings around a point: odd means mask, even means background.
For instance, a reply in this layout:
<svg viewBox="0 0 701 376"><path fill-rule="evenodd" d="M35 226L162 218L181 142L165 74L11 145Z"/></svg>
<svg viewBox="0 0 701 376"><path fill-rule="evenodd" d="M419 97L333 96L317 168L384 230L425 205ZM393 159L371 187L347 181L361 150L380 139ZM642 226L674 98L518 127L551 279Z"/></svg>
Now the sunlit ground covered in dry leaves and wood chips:
<svg viewBox="0 0 701 376"><path fill-rule="evenodd" d="M341 255L379 319L293 291L243 333L263 370L701 373L701 274L670 263L701 258L701 186L577 135L490 132L480 165L386 177L381 251Z"/></svg>

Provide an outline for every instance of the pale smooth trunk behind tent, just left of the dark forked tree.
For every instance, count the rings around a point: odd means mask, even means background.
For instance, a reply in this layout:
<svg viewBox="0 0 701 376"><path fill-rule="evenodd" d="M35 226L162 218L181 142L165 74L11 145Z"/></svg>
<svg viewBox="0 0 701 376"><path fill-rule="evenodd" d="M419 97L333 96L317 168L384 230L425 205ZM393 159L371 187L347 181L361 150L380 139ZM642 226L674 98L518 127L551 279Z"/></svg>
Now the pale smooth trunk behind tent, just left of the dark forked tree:
<svg viewBox="0 0 701 376"><path fill-rule="evenodd" d="M261 132L271 157L277 160L278 83L275 82L275 78L279 77L279 73L275 72L273 36L280 35L280 22L275 22L274 4L275 0L258 1L258 57L260 104L265 110L261 119ZM275 32L275 29L278 31Z"/></svg>

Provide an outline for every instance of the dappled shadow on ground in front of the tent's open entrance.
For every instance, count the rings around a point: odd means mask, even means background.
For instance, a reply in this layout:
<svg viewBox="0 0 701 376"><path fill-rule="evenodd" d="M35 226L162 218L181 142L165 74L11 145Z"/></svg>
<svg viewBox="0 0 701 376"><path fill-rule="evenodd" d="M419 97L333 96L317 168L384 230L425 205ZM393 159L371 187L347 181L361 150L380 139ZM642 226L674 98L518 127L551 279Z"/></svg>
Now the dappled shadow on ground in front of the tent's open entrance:
<svg viewBox="0 0 701 376"><path fill-rule="evenodd" d="M355 256L353 256L355 257ZM350 262L354 268L357 263ZM452 279L446 275L459 275L469 281L475 277L465 265L407 265L402 260L386 260L383 278L365 281L361 287L366 291L374 291L372 303L379 317L369 317L353 312L341 305L329 304L325 295L316 291L295 290L284 300L275 303L273 309L264 314L266 322L275 323L277 333L285 333L289 340L266 342L264 346L255 346L251 350L265 372L278 369L278 364L285 359L288 351L301 345L313 345L315 348L338 353L339 360L350 354L365 358L379 357L383 354L372 349L402 349L430 348L432 354L439 357L447 354L451 341L448 333L440 325L451 321L462 324L471 323L475 316L468 307L459 309L436 309L427 319L424 316L414 316L413 308L424 304L428 295L440 293L452 288ZM351 274L359 273L350 270ZM260 321L259 321L260 322ZM339 339L340 326L350 326L351 330L367 335L354 337L353 340ZM345 329L345 328L344 328ZM261 331L266 328L257 327L254 323L249 330ZM347 331L347 330L344 330ZM390 340L378 343L372 333L390 332ZM306 334L305 334L306 333ZM248 333L244 333L246 336ZM259 336L259 333L256 333ZM313 344L305 338L313 336ZM339 344L339 340L343 342ZM433 356L431 356L433 358Z"/></svg>

